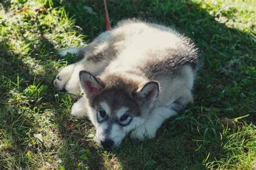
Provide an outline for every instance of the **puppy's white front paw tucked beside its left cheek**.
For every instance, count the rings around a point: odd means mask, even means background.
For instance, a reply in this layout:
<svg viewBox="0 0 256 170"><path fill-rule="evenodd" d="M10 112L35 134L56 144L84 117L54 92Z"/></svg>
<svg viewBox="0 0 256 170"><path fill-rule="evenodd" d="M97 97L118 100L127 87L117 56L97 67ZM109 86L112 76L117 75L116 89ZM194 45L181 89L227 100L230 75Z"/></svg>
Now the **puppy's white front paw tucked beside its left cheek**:
<svg viewBox="0 0 256 170"><path fill-rule="evenodd" d="M72 105L71 115L77 118L85 117L87 113L86 103L85 97L79 98L79 100Z"/></svg>

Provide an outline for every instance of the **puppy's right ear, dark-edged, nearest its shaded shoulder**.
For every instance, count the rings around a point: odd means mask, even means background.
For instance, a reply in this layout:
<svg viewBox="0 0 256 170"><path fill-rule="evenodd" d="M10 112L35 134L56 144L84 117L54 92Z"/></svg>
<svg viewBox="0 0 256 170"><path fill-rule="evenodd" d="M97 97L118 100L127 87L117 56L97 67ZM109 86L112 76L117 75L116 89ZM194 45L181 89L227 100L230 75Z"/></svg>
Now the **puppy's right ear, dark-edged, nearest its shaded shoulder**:
<svg viewBox="0 0 256 170"><path fill-rule="evenodd" d="M138 100L146 102L151 108L156 101L156 98L159 93L159 83L157 81L149 81L139 88L136 98Z"/></svg>

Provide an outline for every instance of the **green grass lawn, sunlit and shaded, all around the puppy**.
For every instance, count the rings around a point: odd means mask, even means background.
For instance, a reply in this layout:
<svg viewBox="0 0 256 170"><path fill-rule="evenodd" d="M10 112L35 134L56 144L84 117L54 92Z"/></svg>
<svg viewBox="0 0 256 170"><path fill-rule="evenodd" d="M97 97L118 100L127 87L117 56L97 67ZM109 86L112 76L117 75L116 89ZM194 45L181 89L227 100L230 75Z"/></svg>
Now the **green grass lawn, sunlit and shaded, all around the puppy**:
<svg viewBox="0 0 256 170"><path fill-rule="evenodd" d="M75 101L52 86L58 70L76 61L57 49L84 46L105 30L102 1L4 0L0 169L255 169L255 2L124 0L108 8L112 25L142 18L194 40L204 61L195 102L155 139L102 150L89 120L70 116Z"/></svg>

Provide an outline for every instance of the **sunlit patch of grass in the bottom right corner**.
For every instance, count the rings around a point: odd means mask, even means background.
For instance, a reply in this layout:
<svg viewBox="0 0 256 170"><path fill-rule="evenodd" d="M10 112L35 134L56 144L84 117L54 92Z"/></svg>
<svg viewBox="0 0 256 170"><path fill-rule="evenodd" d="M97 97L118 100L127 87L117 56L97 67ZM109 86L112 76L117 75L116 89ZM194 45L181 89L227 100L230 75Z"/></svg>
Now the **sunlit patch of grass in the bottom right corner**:
<svg viewBox="0 0 256 170"><path fill-rule="evenodd" d="M227 135L228 134L228 135ZM256 130L253 124L244 123L233 132L223 131L227 142L223 144L221 159L207 162L209 168L255 168ZM222 137L222 136L221 136Z"/></svg>

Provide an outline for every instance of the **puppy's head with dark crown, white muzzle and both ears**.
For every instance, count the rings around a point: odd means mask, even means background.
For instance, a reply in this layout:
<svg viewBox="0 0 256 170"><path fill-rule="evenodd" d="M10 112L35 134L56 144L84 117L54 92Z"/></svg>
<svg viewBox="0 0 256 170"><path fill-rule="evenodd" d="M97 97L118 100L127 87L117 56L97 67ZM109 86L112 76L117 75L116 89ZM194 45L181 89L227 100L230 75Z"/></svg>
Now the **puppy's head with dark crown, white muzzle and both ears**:
<svg viewBox="0 0 256 170"><path fill-rule="evenodd" d="M122 76L100 80L85 71L79 77L97 141L107 149L120 145L127 133L145 122L159 92L156 81L141 84Z"/></svg>

